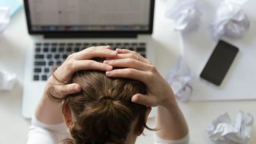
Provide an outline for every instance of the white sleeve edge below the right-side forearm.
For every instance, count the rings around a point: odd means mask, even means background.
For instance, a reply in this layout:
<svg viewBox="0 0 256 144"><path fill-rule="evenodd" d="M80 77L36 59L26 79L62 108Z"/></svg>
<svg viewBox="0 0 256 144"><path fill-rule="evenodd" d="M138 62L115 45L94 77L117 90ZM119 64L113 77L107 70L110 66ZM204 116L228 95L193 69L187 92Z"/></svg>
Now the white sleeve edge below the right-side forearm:
<svg viewBox="0 0 256 144"><path fill-rule="evenodd" d="M155 133L155 144L188 144L189 142L189 134L186 135L186 137L181 138L179 140L165 140L160 137Z"/></svg>

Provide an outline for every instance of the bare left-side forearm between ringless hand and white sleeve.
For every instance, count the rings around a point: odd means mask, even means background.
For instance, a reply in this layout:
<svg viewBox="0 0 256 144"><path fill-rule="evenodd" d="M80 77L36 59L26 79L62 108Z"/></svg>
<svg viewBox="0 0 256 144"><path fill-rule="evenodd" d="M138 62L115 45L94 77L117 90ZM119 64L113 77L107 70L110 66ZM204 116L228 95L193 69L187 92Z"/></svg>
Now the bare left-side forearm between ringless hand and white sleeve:
<svg viewBox="0 0 256 144"><path fill-rule="evenodd" d="M53 102L47 93L49 84L46 84L42 98L40 99L36 111L36 118L46 124L63 123L61 103Z"/></svg>

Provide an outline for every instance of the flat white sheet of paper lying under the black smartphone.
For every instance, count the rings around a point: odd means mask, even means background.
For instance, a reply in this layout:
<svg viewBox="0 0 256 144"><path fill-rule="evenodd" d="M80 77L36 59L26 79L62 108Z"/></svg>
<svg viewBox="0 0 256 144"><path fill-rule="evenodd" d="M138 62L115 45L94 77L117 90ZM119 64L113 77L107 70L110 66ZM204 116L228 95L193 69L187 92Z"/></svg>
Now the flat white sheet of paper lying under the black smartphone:
<svg viewBox="0 0 256 144"><path fill-rule="evenodd" d="M194 73L192 100L241 100L256 99L256 9L255 1L243 5L243 10L250 20L249 31L242 38L222 37L225 41L239 48L236 59L231 65L225 79L220 86L203 81L199 77L215 45L211 35L210 24L215 16L215 11L222 0L202 0L207 13L203 14L200 27L191 33L181 34L183 55Z"/></svg>

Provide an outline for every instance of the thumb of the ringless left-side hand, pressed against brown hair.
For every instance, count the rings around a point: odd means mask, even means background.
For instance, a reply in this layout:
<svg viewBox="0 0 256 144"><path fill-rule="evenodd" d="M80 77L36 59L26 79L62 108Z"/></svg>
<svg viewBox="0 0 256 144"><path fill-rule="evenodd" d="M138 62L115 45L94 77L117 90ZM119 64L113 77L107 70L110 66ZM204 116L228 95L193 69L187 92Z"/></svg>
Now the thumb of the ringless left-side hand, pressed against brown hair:
<svg viewBox="0 0 256 144"><path fill-rule="evenodd" d="M51 92L54 92L54 95L63 96L80 92L81 86L75 83L67 85L51 85L50 90Z"/></svg>

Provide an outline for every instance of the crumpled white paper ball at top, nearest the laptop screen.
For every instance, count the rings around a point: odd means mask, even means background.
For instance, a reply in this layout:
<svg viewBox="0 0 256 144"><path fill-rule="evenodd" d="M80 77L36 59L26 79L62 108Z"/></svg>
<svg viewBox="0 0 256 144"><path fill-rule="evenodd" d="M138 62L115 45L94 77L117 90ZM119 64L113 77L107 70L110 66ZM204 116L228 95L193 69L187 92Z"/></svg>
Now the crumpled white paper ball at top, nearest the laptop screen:
<svg viewBox="0 0 256 144"><path fill-rule="evenodd" d="M167 4L166 18L173 19L174 30L196 29L201 22L202 5L198 0L177 1L174 6Z"/></svg>

